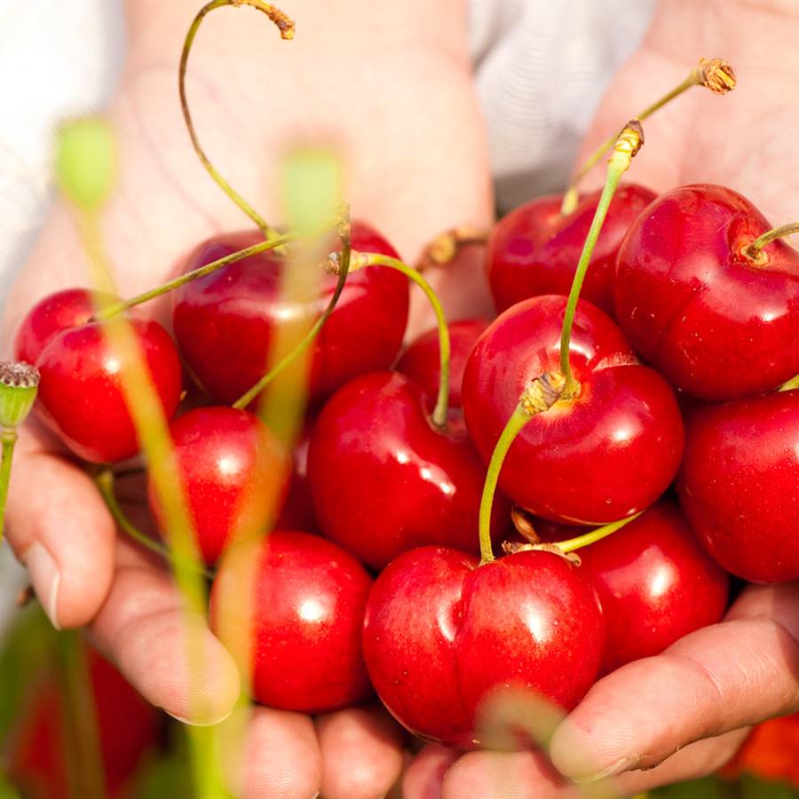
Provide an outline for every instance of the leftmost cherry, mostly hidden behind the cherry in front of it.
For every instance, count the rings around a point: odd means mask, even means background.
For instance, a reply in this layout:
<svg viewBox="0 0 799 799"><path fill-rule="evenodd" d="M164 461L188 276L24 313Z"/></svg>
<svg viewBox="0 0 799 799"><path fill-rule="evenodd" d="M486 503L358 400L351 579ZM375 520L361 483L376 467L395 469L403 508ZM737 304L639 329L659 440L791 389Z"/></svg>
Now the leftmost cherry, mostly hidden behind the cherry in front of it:
<svg viewBox="0 0 799 799"><path fill-rule="evenodd" d="M36 365L51 339L67 328L77 328L91 319L95 306L113 297L90 289L64 289L39 300L20 323L14 339L14 357Z"/></svg>

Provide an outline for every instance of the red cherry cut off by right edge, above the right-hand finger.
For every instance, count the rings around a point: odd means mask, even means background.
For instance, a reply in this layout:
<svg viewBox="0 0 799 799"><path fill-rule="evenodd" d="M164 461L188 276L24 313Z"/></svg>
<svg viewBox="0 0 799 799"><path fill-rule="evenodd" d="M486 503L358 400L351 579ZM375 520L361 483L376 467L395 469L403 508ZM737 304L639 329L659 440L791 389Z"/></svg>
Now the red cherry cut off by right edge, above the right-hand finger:
<svg viewBox="0 0 799 799"><path fill-rule="evenodd" d="M728 572L799 580L799 391L694 411L677 492L700 542Z"/></svg>

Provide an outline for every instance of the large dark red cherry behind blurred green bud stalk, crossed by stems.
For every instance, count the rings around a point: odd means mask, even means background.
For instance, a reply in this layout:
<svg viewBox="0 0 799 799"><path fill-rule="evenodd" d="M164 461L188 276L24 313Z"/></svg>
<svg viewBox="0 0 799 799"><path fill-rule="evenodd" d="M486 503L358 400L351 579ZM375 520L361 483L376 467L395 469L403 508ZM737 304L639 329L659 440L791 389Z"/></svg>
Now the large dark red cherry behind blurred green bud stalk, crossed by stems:
<svg viewBox="0 0 799 799"><path fill-rule="evenodd" d="M261 240L256 231L217 236L194 250L185 271ZM352 224L352 248L397 257L392 246L363 223ZM305 329L328 305L335 278L314 272L308 290L315 298L289 303L280 297L284 271L281 258L267 251L174 292L173 325L180 352L220 403L235 401L265 375L280 324ZM313 281L318 277L316 289ZM389 368L402 345L407 305L407 278L399 272L370 266L349 275L336 310L313 344L312 400L323 399L362 372Z"/></svg>

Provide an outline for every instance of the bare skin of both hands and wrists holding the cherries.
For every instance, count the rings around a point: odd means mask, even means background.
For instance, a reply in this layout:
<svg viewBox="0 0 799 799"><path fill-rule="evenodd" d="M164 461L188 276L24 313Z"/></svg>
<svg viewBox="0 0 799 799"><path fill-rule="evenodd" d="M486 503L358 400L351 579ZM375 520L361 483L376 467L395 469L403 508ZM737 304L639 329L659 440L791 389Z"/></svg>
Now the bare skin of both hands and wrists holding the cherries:
<svg viewBox="0 0 799 799"><path fill-rule="evenodd" d="M297 40L291 44L254 24L255 12L248 11L215 12L205 23L215 34L203 28L198 36L189 91L203 143L267 218L280 219L271 190L273 155L281 152L286 131L326 131L350 154L353 212L368 211L369 221L405 257L415 257L424 241L448 227L487 224L492 202L486 143L471 88L463 7L359 4L355 14L346 2L323 8L306 0L297 4ZM248 14L247 20L239 21L237 13ZM246 222L195 161L180 119L175 75L191 8L130 4L128 14L131 46L111 112L121 174L104 219L126 296L160 281L198 241ZM728 184L774 224L794 219L795 14L788 0L730 3L724 14L713 3L661 5L633 63L600 107L586 152L661 86L682 80L700 55L724 55L738 70L740 87L726 99L693 90L648 123L635 179L660 191L705 180ZM268 28L265 20L263 25ZM333 44L342 42L351 46L336 47L334 55ZM764 53L779 55L766 63ZM644 80L646 75L653 77ZM335 91L344 80L352 89L346 101ZM587 187L600 180L597 170ZM20 314L44 294L73 284L84 268L75 228L59 207L10 297L7 348ZM445 292L447 299L457 304L455 294ZM161 311L153 308L155 315ZM458 308L458 316L468 313ZM7 514L9 540L28 562L51 619L68 627L88 624L97 645L146 699L173 715L185 717L192 705L202 709L194 721L226 716L239 691L230 656L204 633L206 674L189 684L178 644L188 622L169 577L117 538L91 480L63 455L50 436L28 426L14 461ZM740 745L748 725L799 709L797 639L799 588L747 589L723 624L600 681L555 733L555 766L576 779L629 771L618 778L626 793L712 771ZM374 710L314 721L257 708L243 795L383 795L401 767L399 735L387 724ZM410 764L405 790L424 799L576 795L541 755L459 757L440 748L426 748Z"/></svg>

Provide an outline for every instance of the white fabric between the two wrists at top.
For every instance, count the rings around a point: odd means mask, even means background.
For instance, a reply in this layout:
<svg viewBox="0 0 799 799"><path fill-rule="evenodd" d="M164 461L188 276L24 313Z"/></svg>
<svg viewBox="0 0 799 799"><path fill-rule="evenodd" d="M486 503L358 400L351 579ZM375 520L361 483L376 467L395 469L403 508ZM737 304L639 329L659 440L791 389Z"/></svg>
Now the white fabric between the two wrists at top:
<svg viewBox="0 0 799 799"><path fill-rule="evenodd" d="M599 99L640 43L653 6L471 0L471 53L500 210L564 187Z"/></svg>

